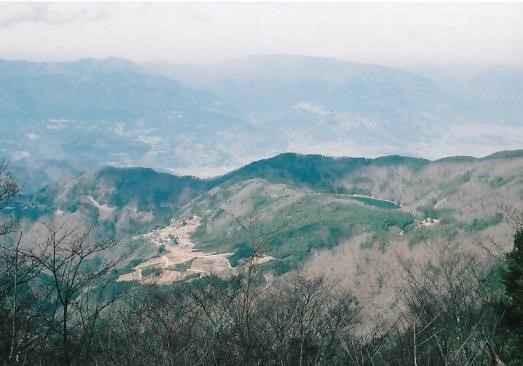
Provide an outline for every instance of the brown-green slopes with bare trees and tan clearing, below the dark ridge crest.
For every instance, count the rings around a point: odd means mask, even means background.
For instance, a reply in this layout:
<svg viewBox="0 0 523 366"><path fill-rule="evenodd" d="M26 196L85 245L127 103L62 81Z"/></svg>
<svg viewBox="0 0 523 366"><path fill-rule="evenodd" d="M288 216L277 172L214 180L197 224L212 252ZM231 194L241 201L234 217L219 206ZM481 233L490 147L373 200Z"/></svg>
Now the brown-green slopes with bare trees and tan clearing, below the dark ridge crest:
<svg viewBox="0 0 523 366"><path fill-rule="evenodd" d="M518 365L500 278L522 183L519 156L370 164L333 189L231 179L179 209L70 183L75 201L60 194L2 237L0 352L66 365ZM134 231L111 231L122 217Z"/></svg>

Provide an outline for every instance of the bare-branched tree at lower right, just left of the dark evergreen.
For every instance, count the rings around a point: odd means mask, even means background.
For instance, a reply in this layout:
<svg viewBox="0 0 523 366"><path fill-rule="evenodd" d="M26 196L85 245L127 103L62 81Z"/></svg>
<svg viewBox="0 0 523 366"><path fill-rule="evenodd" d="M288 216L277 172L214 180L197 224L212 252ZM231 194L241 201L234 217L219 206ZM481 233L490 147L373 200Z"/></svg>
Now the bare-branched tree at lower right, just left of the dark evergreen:
<svg viewBox="0 0 523 366"><path fill-rule="evenodd" d="M406 353L414 363L433 359L445 365L482 364L482 343L496 344L500 321L488 289L493 268L489 259L442 244L424 265L403 262L404 334L412 339Z"/></svg>

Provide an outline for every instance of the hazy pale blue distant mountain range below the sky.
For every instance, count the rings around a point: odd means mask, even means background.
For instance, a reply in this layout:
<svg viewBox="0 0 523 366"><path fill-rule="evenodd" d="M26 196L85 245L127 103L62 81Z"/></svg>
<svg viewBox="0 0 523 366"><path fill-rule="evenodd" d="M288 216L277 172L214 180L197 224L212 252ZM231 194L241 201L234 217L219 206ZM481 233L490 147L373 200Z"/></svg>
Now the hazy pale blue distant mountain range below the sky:
<svg viewBox="0 0 523 366"><path fill-rule="evenodd" d="M103 165L217 176L284 151L486 155L521 147L522 91L511 67L0 61L0 154L28 192Z"/></svg>

